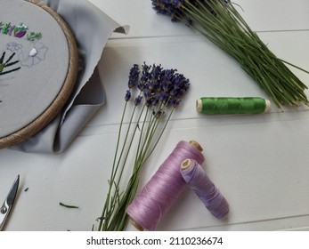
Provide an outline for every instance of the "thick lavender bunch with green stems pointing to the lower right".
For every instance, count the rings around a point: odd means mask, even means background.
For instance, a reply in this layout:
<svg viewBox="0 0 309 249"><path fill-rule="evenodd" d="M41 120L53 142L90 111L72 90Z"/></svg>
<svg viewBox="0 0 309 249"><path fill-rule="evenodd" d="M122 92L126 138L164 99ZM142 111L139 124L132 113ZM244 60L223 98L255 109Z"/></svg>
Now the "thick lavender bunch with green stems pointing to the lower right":
<svg viewBox="0 0 309 249"><path fill-rule="evenodd" d="M266 92L277 108L308 105L307 86L277 58L240 16L230 0L151 0L153 9L183 21L231 55ZM298 68L309 73L308 71Z"/></svg>

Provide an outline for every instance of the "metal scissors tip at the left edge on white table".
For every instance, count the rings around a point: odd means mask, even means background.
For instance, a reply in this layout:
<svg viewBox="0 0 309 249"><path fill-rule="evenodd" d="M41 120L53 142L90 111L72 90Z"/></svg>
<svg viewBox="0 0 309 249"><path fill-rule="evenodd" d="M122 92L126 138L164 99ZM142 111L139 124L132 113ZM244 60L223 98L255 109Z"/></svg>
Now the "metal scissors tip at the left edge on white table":
<svg viewBox="0 0 309 249"><path fill-rule="evenodd" d="M12 183L12 187L7 197L4 200L4 204L0 207L0 231L4 228L4 223L10 214L19 184L20 184L20 175L18 175L15 181Z"/></svg>

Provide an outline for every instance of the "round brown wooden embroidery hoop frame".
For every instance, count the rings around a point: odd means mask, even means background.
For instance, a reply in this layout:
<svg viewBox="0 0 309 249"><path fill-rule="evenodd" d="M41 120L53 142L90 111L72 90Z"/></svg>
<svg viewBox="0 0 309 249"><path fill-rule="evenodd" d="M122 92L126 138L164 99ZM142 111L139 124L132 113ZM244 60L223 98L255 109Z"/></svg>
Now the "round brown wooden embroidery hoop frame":
<svg viewBox="0 0 309 249"><path fill-rule="evenodd" d="M38 0L25 0L28 3L36 4L45 12L48 12L54 20L56 20L61 27L64 35L66 36L68 47L69 47L69 68L66 79L62 84L61 90L57 97L53 100L53 103L45 109L45 111L33 120L30 124L21 128L19 131L8 134L0 138L0 149L7 148L9 146L25 141L31 136L35 135L41 131L47 124L49 124L55 116L57 116L61 108L65 105L66 101L69 99L70 93L77 80L77 67L78 67L78 52L77 43L75 37L70 30L67 23L61 18L61 16L54 12L53 9L48 7L46 4L41 3Z"/></svg>

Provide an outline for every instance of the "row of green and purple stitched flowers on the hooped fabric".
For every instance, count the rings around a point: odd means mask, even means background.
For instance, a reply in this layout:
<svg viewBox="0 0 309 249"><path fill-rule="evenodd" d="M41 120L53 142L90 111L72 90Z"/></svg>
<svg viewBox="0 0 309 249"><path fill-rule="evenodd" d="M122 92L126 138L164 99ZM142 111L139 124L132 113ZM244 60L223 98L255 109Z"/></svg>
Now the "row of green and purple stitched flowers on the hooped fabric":
<svg viewBox="0 0 309 249"><path fill-rule="evenodd" d="M26 37L30 42L39 40L43 36L41 32L34 32L34 31L28 32L28 27L22 22L18 25L12 25L11 22L4 23L0 21L0 33L7 36L15 36L17 38L22 38L27 34Z"/></svg>

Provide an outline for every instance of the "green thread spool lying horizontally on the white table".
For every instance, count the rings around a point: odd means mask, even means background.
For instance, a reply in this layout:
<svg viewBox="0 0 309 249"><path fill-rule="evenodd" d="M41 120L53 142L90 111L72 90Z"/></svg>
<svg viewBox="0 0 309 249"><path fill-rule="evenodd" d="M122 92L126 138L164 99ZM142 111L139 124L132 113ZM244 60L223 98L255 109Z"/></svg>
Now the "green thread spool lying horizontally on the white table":
<svg viewBox="0 0 309 249"><path fill-rule="evenodd" d="M269 112L271 102L259 97L228 98L203 97L197 100L198 112L215 114L260 114Z"/></svg>

